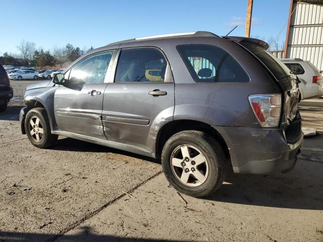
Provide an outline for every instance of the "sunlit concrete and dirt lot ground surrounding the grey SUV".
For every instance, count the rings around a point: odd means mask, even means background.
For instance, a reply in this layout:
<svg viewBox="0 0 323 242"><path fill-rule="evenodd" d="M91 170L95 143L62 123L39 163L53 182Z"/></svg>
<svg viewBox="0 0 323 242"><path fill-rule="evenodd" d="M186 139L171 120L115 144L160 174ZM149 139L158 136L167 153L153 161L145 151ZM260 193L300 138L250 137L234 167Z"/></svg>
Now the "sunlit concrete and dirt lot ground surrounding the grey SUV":
<svg viewBox="0 0 323 242"><path fill-rule="evenodd" d="M323 241L323 133L287 173L229 174L207 199L180 197L158 160L69 138L40 150L0 114L0 241ZM300 103L323 132L323 100ZM130 194L130 195L128 195Z"/></svg>

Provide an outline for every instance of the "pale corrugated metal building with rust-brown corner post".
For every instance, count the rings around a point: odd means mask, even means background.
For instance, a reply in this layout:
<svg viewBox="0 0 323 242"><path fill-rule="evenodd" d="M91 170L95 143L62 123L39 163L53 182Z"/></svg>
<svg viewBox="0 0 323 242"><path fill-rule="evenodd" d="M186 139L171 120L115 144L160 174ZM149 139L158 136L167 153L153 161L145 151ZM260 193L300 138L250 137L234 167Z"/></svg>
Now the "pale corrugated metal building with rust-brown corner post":
<svg viewBox="0 0 323 242"><path fill-rule="evenodd" d="M323 0L291 0L289 14L284 57L310 61L323 71Z"/></svg>

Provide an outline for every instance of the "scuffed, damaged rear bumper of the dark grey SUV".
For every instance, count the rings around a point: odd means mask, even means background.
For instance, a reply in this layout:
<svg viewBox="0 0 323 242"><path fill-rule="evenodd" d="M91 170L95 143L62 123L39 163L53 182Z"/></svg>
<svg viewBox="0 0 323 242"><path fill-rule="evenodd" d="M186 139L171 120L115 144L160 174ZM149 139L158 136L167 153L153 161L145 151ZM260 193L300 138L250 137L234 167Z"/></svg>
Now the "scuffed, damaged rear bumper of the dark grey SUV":
<svg viewBox="0 0 323 242"><path fill-rule="evenodd" d="M233 171L272 174L290 171L300 155L303 133L297 130L294 142L287 143L285 131L247 127L214 127L229 148Z"/></svg>

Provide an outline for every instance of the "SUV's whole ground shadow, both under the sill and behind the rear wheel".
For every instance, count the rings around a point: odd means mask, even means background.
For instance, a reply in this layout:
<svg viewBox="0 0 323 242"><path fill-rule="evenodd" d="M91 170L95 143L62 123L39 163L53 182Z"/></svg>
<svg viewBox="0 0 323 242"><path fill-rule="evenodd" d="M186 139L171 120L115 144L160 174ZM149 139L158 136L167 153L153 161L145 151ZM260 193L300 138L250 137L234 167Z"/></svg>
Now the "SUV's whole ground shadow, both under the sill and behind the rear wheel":
<svg viewBox="0 0 323 242"><path fill-rule="evenodd" d="M158 159L153 159L133 153L112 149L96 144L70 138L61 139L56 146L51 147L55 150L68 150L79 152L110 152L126 155L148 162L160 163ZM234 174L227 175L226 182L219 191L206 200L235 203L244 205L293 208L293 209L312 209L323 210L323 189L317 179L320 169L306 168L309 164L296 164L291 174L263 176ZM318 165L318 163L317 163ZM323 167L323 164L322 164ZM315 190L316 189L316 190ZM308 196L308 190L314 193Z"/></svg>

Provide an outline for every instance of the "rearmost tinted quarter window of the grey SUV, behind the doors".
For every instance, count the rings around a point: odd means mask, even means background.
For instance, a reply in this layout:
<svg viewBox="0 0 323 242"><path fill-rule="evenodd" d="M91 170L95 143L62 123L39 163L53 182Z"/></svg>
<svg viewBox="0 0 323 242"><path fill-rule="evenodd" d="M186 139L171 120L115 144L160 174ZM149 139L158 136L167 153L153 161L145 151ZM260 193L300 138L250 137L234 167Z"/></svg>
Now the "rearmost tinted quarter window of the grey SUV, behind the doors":
<svg viewBox="0 0 323 242"><path fill-rule="evenodd" d="M177 46L196 82L249 82L249 77L235 58L213 45Z"/></svg>

